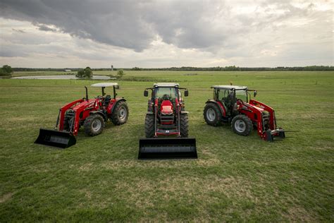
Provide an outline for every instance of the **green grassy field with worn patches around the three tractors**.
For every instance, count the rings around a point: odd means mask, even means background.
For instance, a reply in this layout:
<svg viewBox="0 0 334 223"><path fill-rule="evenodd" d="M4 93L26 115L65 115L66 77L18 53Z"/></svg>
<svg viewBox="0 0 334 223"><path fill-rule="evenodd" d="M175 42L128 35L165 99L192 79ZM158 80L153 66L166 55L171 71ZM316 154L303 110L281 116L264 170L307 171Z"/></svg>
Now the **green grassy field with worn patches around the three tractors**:
<svg viewBox="0 0 334 223"><path fill-rule="evenodd" d="M53 128L58 108L99 81L0 80L0 222L334 221L334 72L125 73L128 123L93 138L81 130L66 150L35 145L39 128ZM159 80L189 89L199 159L137 160L142 92ZM230 82L257 89L278 125L299 132L268 143L206 125L210 86Z"/></svg>

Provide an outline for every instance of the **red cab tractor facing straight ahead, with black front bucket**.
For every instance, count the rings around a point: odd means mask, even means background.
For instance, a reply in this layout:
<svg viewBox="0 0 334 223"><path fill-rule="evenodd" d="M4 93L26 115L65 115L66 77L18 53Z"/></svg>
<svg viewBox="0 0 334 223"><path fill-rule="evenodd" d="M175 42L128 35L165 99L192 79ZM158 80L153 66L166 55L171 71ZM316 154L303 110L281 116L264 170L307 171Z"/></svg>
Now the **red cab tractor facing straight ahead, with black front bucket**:
<svg viewBox="0 0 334 223"><path fill-rule="evenodd" d="M139 159L197 158L196 140L188 138L188 111L177 83L155 83L145 117L146 138L140 139ZM159 138L159 137L163 138Z"/></svg>

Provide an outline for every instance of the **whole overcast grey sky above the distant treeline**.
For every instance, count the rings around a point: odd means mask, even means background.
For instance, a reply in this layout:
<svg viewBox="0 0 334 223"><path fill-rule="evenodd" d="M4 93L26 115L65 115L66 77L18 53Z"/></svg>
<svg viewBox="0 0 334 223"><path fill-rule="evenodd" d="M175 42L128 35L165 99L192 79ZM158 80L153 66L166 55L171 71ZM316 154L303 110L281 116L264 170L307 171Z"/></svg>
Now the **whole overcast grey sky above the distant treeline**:
<svg viewBox="0 0 334 223"><path fill-rule="evenodd" d="M333 1L0 0L0 65L333 66Z"/></svg>

